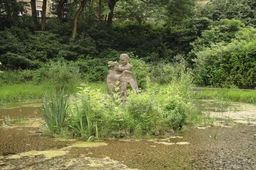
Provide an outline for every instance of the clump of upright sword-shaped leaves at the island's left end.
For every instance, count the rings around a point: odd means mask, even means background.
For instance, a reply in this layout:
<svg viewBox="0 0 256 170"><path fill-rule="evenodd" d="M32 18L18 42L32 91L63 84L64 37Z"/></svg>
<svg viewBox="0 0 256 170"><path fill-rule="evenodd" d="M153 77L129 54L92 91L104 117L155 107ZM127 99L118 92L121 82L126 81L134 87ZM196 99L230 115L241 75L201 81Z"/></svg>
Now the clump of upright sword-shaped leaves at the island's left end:
<svg viewBox="0 0 256 170"><path fill-rule="evenodd" d="M44 95L42 113L46 127L52 133L60 133L67 115L68 98L62 91L53 97Z"/></svg>

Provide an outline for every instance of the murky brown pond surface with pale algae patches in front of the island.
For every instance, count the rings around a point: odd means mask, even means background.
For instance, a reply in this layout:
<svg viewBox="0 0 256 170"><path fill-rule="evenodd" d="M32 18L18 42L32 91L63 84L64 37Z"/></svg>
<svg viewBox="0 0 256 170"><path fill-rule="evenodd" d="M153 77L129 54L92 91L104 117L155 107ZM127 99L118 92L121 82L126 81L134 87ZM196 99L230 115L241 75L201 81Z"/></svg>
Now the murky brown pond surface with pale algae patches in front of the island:
<svg viewBox="0 0 256 170"><path fill-rule="evenodd" d="M165 139L97 147L27 135L31 130L1 128L1 169L256 169L256 126L188 128Z"/></svg>

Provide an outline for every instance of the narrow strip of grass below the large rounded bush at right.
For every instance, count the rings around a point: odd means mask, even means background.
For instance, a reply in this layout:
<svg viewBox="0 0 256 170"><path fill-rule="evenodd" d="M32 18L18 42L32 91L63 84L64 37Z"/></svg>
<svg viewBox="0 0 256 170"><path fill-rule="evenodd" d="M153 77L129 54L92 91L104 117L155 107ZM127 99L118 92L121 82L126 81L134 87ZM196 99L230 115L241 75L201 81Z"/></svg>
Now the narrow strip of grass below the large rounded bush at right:
<svg viewBox="0 0 256 170"><path fill-rule="evenodd" d="M218 99L239 103L256 104L256 90L239 90L239 89L204 89L195 92L195 99Z"/></svg>

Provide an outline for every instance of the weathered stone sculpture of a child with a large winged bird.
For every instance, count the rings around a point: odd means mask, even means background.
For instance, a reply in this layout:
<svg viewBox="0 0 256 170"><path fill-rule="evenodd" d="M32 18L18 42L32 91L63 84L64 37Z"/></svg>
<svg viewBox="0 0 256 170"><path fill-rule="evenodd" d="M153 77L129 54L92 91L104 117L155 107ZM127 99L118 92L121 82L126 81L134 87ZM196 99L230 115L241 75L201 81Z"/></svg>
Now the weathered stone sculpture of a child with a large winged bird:
<svg viewBox="0 0 256 170"><path fill-rule="evenodd" d="M113 92L118 93L122 99L125 99L129 95L126 89L128 83L131 85L135 94L139 93L139 88L137 80L131 72L132 65L128 62L128 55L121 54L120 62L122 63L121 65L117 62L108 62L111 70L108 71L107 92L109 95L113 94Z"/></svg>

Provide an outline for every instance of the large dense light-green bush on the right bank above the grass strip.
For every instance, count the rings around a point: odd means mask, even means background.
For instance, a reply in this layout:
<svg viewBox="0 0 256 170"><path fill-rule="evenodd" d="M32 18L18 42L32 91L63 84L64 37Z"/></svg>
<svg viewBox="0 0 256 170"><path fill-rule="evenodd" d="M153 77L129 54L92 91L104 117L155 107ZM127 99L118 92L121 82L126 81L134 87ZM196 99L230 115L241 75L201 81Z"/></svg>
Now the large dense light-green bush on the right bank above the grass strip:
<svg viewBox="0 0 256 170"><path fill-rule="evenodd" d="M255 88L255 29L243 28L230 43L196 53L196 82L202 86Z"/></svg>

